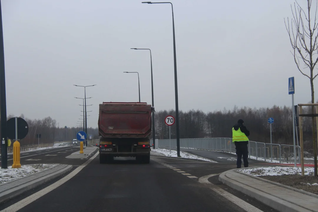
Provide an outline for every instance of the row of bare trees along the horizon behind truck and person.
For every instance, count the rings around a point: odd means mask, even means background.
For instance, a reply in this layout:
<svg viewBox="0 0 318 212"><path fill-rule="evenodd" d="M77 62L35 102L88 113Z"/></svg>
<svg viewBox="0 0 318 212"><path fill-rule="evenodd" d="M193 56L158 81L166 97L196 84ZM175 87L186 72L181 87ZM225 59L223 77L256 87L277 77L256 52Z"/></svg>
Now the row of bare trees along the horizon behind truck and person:
<svg viewBox="0 0 318 212"><path fill-rule="evenodd" d="M310 113L310 107L304 107L303 113ZM156 138L169 139L169 127L164 119L167 115L175 116L175 110L162 110L155 113ZM298 114L298 113L297 113ZM10 114L7 119L14 117ZM20 116L29 125L28 135L21 140L22 145L38 143L36 134L41 134L40 143L52 143L53 141L71 141L76 138L79 127L59 127L55 119L50 116L42 120L31 120ZM238 108L232 110L214 111L204 113L202 110L190 110L179 112L180 138L217 138L232 137L232 127L239 119L250 130L249 139L258 142L270 143L270 124L267 119L274 118L272 124L272 141L275 144L293 145L293 125L291 107L273 106L272 108ZM303 117L304 147L312 149L312 121L310 117ZM297 127L299 136L299 127ZM89 127L87 133L98 139L98 128ZM176 138L176 125L171 126L171 139Z"/></svg>

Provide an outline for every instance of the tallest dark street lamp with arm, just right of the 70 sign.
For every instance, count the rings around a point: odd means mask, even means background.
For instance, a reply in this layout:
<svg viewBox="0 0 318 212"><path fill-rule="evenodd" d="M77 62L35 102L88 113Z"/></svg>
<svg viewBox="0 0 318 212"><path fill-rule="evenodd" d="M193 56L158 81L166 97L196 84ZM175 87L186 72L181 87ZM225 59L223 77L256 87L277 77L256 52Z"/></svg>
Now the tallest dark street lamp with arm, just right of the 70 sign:
<svg viewBox="0 0 318 212"><path fill-rule="evenodd" d="M173 58L175 67L175 96L176 96L176 136L177 136L177 155L180 157L180 133L179 133L179 106L178 106L178 82L177 82L177 62L176 62L176 38L175 38L175 21L173 17L173 5L171 2L142 2L148 4L171 4L172 9L172 33L173 33Z"/></svg>

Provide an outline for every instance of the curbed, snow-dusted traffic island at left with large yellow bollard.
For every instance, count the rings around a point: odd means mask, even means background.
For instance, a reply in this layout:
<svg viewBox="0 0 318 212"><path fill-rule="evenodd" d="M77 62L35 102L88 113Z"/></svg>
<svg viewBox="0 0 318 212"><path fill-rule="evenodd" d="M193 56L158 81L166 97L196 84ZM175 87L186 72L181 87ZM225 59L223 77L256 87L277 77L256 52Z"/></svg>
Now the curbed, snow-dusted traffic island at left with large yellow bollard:
<svg viewBox="0 0 318 212"><path fill-rule="evenodd" d="M44 167L49 167L46 168L42 171L37 171L34 174L30 170L32 169L31 166L41 167L42 165L47 165ZM29 174L22 176L23 174L20 173L19 178L7 182L3 182L0 184L0 203L5 202L17 195L22 194L25 191L28 191L30 189L36 188L39 185L53 180L56 177L59 177L62 174L65 174L73 168L72 165L65 165L65 164L33 164L33 165L22 165L22 168L24 167L25 170L29 170ZM43 166L42 166L43 167ZM11 169L10 171L8 171ZM8 176L14 176L13 172L23 172L24 169L21 168L9 168L8 170L3 170L2 174L5 175L7 173ZM5 172L7 171L7 172ZM27 173L28 171L25 171Z"/></svg>

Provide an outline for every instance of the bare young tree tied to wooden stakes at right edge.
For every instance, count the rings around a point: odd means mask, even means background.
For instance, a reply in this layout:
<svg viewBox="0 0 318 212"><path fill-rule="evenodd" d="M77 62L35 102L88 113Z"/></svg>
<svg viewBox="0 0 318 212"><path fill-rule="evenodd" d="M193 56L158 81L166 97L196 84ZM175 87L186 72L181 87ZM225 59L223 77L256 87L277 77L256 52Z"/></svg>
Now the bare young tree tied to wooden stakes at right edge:
<svg viewBox="0 0 318 212"><path fill-rule="evenodd" d="M311 88L311 103L315 103L314 95L314 79L318 73L314 73L315 66L318 62L318 30L317 30L317 0L315 7L312 7L312 0L307 0L307 8L305 10L296 3L294 7L291 5L293 17L291 20L287 18L285 21L286 30L289 35L290 43L293 51L295 63L302 75L309 78ZM312 10L313 9L313 10ZM309 72L309 73L308 73ZM315 74L315 75L314 75ZM311 113L314 114L314 106L311 108ZM313 130L313 149L315 158L315 176L317 174L317 142L315 131L315 117L312 117Z"/></svg>

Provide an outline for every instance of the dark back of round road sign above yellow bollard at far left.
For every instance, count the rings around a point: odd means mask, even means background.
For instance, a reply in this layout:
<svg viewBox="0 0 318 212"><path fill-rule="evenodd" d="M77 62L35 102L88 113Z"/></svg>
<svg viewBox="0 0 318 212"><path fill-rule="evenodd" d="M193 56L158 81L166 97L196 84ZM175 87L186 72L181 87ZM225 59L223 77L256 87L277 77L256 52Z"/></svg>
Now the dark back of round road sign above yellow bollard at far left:
<svg viewBox="0 0 318 212"><path fill-rule="evenodd" d="M16 118L11 118L7 120L7 136L8 138L15 140L15 139L24 139L25 136L29 132L28 123L22 118L17 118L17 134L18 137L16 138Z"/></svg>

